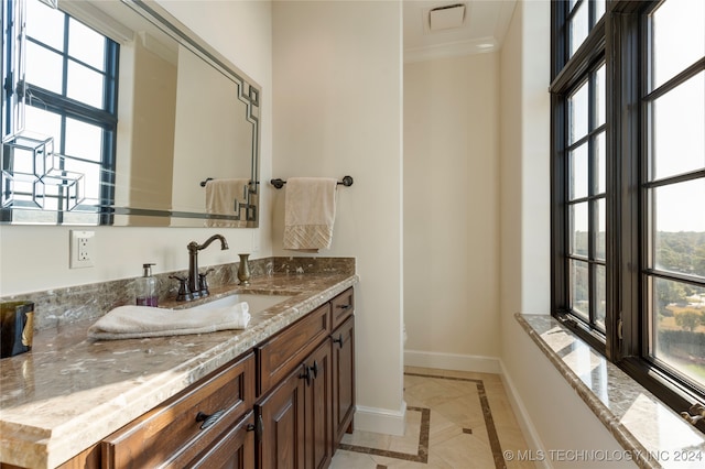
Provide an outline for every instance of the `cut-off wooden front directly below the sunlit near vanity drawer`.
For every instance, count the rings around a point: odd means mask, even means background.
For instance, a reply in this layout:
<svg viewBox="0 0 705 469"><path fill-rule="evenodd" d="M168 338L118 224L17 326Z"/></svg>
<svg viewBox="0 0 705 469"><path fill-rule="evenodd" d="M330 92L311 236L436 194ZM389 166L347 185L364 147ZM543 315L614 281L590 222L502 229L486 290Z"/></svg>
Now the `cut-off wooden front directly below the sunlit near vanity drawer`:
<svg viewBox="0 0 705 469"><path fill-rule="evenodd" d="M187 465L203 469L251 469L254 467L254 414L250 411L208 449Z"/></svg>

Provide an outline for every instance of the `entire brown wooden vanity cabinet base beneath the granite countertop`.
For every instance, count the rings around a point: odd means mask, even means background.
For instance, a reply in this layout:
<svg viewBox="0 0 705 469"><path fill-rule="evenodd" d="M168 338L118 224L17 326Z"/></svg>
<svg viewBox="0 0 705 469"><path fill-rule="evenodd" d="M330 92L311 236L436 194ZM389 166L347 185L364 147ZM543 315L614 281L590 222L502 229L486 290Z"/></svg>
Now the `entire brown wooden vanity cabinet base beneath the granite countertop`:
<svg viewBox="0 0 705 469"><path fill-rule="evenodd" d="M62 468L328 467L352 430L354 302L348 288Z"/></svg>

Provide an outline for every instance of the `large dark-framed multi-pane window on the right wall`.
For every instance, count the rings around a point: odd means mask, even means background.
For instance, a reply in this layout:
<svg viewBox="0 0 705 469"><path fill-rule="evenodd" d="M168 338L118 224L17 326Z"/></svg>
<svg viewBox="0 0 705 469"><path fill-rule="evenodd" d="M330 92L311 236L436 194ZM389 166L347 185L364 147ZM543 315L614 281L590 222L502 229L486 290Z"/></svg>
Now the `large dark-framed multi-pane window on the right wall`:
<svg viewBox="0 0 705 469"><path fill-rule="evenodd" d="M552 313L679 412L705 401L703 18L552 4Z"/></svg>

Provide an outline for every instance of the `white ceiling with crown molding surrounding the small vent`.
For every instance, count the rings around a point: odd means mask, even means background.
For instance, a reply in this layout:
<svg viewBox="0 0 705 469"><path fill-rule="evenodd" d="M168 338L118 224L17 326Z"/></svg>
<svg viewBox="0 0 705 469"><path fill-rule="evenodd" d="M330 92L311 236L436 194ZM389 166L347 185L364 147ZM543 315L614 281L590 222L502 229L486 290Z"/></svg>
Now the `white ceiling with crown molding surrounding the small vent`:
<svg viewBox="0 0 705 469"><path fill-rule="evenodd" d="M465 6L457 29L430 31L429 11L437 7ZM404 62L498 51L517 0L403 0Z"/></svg>

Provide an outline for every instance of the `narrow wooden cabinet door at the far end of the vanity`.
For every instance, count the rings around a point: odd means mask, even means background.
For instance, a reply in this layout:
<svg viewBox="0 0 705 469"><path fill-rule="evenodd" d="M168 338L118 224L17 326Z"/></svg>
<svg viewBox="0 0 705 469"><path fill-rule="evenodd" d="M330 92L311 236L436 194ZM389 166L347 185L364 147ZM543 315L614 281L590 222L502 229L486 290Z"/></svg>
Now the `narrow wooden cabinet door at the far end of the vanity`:
<svg viewBox="0 0 705 469"><path fill-rule="evenodd" d="M355 316L332 335L333 340L333 427L337 448L343 434L352 433L355 414Z"/></svg>

